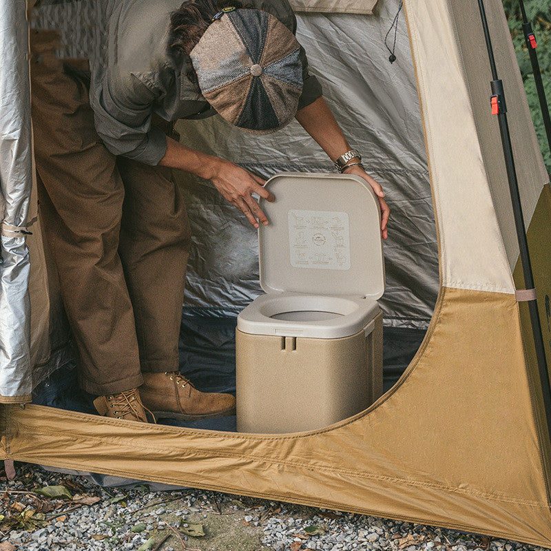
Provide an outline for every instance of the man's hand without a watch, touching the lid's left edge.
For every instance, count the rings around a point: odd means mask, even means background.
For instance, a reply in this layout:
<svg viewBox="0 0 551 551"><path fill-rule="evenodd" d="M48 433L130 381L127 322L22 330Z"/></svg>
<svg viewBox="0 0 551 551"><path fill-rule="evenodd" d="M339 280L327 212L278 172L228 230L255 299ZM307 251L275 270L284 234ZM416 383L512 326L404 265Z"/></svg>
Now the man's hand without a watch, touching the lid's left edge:
<svg viewBox="0 0 551 551"><path fill-rule="evenodd" d="M228 160L218 159L212 176L209 178L220 194L234 207L242 211L251 224L258 228L259 222L268 224L268 218L253 199L252 194L260 195L267 201L273 202L275 197L262 187L266 181L247 172L245 169L230 163Z"/></svg>

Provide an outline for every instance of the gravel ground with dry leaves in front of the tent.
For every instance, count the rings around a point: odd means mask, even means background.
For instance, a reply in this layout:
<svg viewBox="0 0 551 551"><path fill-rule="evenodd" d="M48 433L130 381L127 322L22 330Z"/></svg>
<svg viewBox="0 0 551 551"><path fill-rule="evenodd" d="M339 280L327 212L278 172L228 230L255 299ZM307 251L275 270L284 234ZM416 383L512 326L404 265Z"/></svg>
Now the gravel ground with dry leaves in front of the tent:
<svg viewBox="0 0 551 551"><path fill-rule="evenodd" d="M532 545L202 490L99 488L17 465L0 472L0 551L540 551Z"/></svg>

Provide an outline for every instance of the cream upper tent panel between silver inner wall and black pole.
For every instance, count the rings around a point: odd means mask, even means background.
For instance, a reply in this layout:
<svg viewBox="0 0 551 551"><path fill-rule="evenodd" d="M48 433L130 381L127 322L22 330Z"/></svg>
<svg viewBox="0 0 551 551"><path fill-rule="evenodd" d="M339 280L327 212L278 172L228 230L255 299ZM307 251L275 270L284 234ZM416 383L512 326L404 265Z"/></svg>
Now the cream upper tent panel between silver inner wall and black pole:
<svg viewBox="0 0 551 551"><path fill-rule="evenodd" d="M455 1L404 3L424 117L441 283L512 293L514 284L456 40L451 9ZM471 33L470 39L481 37Z"/></svg>

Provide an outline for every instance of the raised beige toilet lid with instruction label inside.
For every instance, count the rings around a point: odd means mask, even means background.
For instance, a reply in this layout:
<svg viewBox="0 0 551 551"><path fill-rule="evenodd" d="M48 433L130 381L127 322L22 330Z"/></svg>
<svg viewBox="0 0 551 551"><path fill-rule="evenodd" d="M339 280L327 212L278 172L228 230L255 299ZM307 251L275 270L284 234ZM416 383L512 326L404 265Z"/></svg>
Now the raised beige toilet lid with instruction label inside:
<svg viewBox="0 0 551 551"><path fill-rule="evenodd" d="M353 174L277 174L261 199L260 285L267 293L384 293L381 212L371 186Z"/></svg>

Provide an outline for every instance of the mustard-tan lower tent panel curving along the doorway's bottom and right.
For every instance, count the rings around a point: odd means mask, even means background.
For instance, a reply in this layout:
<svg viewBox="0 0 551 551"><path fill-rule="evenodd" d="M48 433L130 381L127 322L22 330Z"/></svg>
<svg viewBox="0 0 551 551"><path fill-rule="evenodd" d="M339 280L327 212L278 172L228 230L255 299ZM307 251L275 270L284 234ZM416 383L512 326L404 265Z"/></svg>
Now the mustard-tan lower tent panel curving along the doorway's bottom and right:
<svg viewBox="0 0 551 551"><path fill-rule="evenodd" d="M218 433L41 406L3 413L10 459L551 545L519 309L509 294L443 289L426 341L393 390L312 433Z"/></svg>

